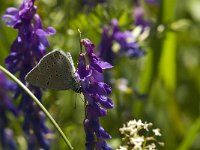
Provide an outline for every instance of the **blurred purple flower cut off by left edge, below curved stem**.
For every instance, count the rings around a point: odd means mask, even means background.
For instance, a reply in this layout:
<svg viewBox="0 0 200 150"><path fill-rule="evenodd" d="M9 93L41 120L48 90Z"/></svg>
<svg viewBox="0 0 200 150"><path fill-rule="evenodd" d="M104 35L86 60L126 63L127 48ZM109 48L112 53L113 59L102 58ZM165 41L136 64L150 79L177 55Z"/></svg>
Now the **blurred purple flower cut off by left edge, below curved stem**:
<svg viewBox="0 0 200 150"><path fill-rule="evenodd" d="M8 128L7 112L18 116L18 111L9 98L8 92L15 89L15 84L8 81L5 75L0 72L0 143L2 149L16 150L16 143L13 140L12 130Z"/></svg>

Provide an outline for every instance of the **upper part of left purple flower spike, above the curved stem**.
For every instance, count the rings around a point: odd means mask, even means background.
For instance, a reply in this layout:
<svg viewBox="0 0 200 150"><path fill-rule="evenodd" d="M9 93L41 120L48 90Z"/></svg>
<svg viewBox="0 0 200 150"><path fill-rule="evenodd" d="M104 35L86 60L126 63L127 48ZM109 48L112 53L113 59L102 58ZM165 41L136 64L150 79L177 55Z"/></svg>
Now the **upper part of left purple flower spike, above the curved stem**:
<svg viewBox="0 0 200 150"><path fill-rule="evenodd" d="M21 74L23 80L26 73L44 56L49 46L46 37L55 33L52 27L44 30L39 15L35 13L34 1L24 0L19 10L8 8L2 17L8 26L19 31L6 63L12 73L24 70Z"/></svg>

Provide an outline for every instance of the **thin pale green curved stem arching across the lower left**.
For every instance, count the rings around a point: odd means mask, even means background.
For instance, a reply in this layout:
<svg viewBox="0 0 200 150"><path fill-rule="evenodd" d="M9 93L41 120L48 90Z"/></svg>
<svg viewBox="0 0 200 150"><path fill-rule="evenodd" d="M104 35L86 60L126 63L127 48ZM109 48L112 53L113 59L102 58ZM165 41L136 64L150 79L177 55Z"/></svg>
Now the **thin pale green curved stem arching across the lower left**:
<svg viewBox="0 0 200 150"><path fill-rule="evenodd" d="M14 80L26 93L34 100L34 102L42 109L42 111L46 114L46 116L49 118L49 120L52 122L52 124L55 126L55 128L60 133L61 137L69 147L69 149L73 149L71 143L59 127L59 125L56 123L56 121L53 119L53 117L49 114L49 112L46 110L46 108L40 103L40 101L33 95L33 93L21 82L19 81L14 75L12 75L8 70L6 70L4 67L0 65L0 70L3 71L6 75L8 75L12 80Z"/></svg>

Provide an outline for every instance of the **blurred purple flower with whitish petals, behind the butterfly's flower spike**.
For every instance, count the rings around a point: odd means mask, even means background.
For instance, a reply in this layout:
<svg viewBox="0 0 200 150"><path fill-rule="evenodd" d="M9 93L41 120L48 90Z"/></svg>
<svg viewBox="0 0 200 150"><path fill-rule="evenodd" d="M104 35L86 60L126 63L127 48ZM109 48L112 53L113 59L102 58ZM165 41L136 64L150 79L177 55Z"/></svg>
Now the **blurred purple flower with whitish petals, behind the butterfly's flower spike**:
<svg viewBox="0 0 200 150"><path fill-rule="evenodd" d="M118 45L117 49L114 48L115 45ZM132 32L128 30L121 32L116 19L112 20L110 27L103 28L98 51L98 56L110 64L114 63L114 58L117 56L137 58L144 55Z"/></svg>

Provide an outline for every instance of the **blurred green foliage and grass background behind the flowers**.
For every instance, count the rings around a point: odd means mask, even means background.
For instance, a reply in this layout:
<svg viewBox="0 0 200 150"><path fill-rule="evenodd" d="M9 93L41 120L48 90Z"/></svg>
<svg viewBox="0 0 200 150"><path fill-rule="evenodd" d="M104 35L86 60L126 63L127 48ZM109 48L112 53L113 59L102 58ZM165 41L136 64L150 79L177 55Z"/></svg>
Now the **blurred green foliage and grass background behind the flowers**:
<svg viewBox="0 0 200 150"><path fill-rule="evenodd" d="M0 16L7 7L19 7L22 0L1 1ZM92 1L94 4L96 1ZM79 33L98 45L102 27L113 18L119 20L122 31L133 29L132 0L107 0L88 6L82 0L36 0L37 13L44 27L53 26L57 33L49 38L48 51L61 48L79 54ZM146 19L155 26L144 41L147 52L139 59L118 58L109 71L113 80L110 95L115 107L101 118L101 124L112 135L108 143L118 147L119 128L131 119L152 122L160 128L165 150L200 149L200 1L161 0L161 6L142 1ZM10 52L17 31L0 21L0 64ZM119 89L121 79L128 81L127 89ZM140 93L138 95L138 92ZM141 96L142 94L142 96ZM45 91L43 103L66 133L75 149L84 149L84 103L82 95L72 91ZM26 149L21 132L23 117L12 115L10 127L20 149ZM53 126L47 120L47 125ZM56 131L55 131L56 132ZM56 134L52 149L65 149Z"/></svg>

